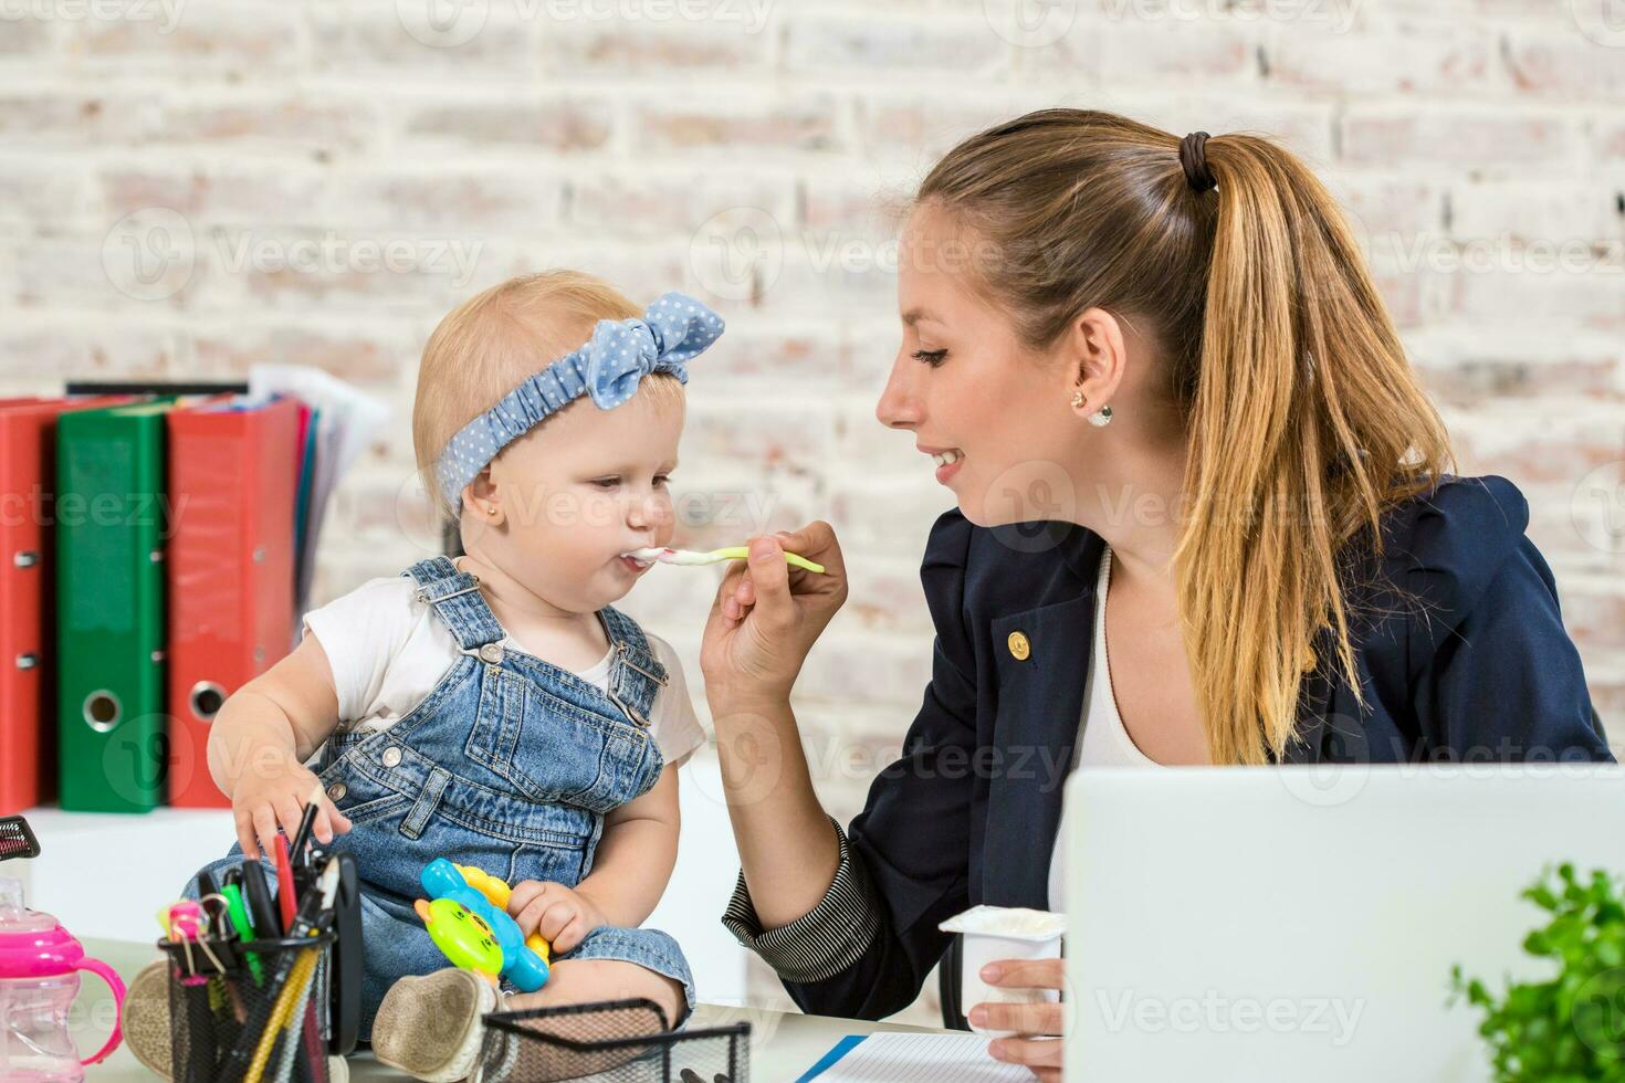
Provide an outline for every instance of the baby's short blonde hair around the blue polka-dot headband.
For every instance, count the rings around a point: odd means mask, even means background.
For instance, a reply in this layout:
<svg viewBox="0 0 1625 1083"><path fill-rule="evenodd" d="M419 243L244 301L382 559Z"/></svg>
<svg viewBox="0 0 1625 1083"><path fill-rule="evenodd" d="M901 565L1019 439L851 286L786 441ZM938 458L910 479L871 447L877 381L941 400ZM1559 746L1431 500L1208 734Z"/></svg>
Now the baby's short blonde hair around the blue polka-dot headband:
<svg viewBox="0 0 1625 1083"><path fill-rule="evenodd" d="M520 274L452 309L422 347L411 412L418 472L436 507L460 507L460 494L440 492L434 463L463 425L585 344L600 320L642 315L626 294L585 271ZM639 398L645 395L652 404L681 404L682 385L653 373L639 383Z"/></svg>

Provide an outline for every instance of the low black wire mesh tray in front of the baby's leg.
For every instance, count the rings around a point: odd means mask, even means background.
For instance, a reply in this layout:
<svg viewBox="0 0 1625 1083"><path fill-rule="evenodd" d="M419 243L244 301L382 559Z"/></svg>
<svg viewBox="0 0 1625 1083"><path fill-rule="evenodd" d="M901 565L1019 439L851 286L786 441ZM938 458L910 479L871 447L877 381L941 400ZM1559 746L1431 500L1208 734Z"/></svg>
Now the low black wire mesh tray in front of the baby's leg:
<svg viewBox="0 0 1625 1083"><path fill-rule="evenodd" d="M470 1083L746 1083L751 1025L666 1029L653 1000L606 1000L484 1016Z"/></svg>

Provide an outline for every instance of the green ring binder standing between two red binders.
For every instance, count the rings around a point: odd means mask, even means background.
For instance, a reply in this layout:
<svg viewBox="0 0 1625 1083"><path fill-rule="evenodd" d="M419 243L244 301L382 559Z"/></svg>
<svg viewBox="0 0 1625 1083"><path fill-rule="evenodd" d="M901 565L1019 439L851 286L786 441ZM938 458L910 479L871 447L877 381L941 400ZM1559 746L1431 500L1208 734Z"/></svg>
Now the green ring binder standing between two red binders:
<svg viewBox="0 0 1625 1083"><path fill-rule="evenodd" d="M164 414L172 399L57 422L62 807L164 804Z"/></svg>

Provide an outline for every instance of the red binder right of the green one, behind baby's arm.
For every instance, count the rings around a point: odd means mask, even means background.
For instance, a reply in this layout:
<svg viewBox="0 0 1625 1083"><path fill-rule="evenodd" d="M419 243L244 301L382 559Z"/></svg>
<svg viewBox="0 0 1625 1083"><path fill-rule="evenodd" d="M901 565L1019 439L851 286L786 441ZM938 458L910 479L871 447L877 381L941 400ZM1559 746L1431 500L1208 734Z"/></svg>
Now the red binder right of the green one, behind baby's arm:
<svg viewBox="0 0 1625 1083"><path fill-rule="evenodd" d="M210 723L292 641L299 455L297 399L224 396L169 414L172 805L231 805L210 776Z"/></svg>

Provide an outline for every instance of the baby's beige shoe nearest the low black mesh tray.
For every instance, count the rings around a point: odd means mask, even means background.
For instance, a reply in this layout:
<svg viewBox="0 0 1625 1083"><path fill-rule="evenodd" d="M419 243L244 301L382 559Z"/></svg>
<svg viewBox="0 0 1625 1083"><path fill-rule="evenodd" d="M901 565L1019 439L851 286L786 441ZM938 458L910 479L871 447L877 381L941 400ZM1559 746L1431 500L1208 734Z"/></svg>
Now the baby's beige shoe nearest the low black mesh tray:
<svg viewBox="0 0 1625 1083"><path fill-rule="evenodd" d="M401 977L372 1020L372 1055L427 1083L468 1078L484 1039L481 1016L502 1010L496 986L448 966Z"/></svg>

